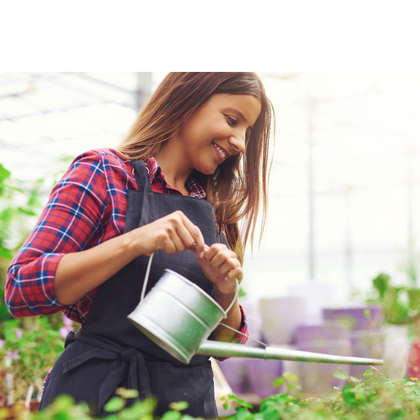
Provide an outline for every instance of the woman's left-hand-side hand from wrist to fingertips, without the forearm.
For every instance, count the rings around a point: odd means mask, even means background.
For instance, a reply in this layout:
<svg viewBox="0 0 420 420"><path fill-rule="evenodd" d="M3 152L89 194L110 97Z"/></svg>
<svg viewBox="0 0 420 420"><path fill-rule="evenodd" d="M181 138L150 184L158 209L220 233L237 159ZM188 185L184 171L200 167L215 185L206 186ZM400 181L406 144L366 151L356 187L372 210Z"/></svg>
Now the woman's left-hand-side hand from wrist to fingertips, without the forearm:
<svg viewBox="0 0 420 420"><path fill-rule="evenodd" d="M158 250L175 254L192 248L197 255L204 255L205 243L200 229L180 210L134 229L127 235L138 255L150 256Z"/></svg>

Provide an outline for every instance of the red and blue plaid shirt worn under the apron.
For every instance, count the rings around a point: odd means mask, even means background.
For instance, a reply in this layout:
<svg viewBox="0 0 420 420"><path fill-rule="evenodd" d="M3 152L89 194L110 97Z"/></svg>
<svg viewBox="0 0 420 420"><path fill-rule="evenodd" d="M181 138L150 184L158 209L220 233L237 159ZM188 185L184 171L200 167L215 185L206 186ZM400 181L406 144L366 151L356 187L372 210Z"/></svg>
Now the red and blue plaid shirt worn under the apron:
<svg viewBox="0 0 420 420"><path fill-rule="evenodd" d="M154 158L146 162L146 168L153 191L181 194L167 184ZM206 197L192 176L185 186L190 196ZM73 305L61 305L54 294L55 271L65 254L92 248L123 233L128 189L137 189L132 166L115 151L92 150L73 161L8 269L5 301L13 316L61 311L84 323L97 289ZM248 334L243 310L242 319L241 332ZM238 334L234 341L244 343L246 338Z"/></svg>

